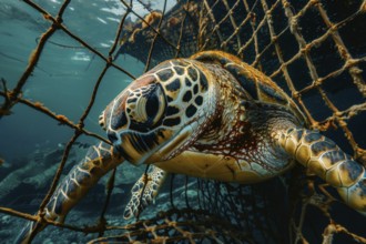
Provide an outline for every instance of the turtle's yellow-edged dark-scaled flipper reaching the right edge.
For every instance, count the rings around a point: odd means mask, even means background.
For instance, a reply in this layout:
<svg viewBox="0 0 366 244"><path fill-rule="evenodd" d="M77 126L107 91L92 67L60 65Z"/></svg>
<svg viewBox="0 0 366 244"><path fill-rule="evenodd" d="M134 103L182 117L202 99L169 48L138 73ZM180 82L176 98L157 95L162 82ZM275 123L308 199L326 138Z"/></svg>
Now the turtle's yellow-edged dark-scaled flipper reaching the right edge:
<svg viewBox="0 0 366 244"><path fill-rule="evenodd" d="M296 161L336 187L343 200L366 215L365 167L317 131L289 129L279 145Z"/></svg>

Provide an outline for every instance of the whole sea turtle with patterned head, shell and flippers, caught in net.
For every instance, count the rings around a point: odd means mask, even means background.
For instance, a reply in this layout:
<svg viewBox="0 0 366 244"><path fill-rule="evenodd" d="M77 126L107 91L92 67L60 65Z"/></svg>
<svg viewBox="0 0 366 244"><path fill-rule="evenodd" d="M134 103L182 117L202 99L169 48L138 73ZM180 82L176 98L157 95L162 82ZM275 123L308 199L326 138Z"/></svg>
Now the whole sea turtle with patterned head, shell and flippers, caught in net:
<svg viewBox="0 0 366 244"><path fill-rule="evenodd" d="M140 199L142 205L152 201L165 172L247 184L279 175L295 162L366 214L365 169L306 129L296 104L268 77L228 53L205 51L159 64L124 89L100 123L112 145L90 149L54 192L45 218L63 221L123 161L151 164L133 186L125 217L141 211ZM44 222L29 222L18 242L42 227Z"/></svg>

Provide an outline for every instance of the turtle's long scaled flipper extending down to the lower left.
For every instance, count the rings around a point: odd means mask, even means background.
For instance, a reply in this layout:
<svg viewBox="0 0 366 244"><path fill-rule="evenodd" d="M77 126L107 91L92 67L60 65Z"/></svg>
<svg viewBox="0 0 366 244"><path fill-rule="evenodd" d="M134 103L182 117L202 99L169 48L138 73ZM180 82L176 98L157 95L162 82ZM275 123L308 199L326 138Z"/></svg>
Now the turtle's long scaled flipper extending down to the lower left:
<svg viewBox="0 0 366 244"><path fill-rule="evenodd" d="M50 202L44 207L44 218L63 222L69 211L110 170L123 162L123 157L113 146L101 142L91 146L85 157L62 180ZM47 224L28 222L16 243L30 243Z"/></svg>

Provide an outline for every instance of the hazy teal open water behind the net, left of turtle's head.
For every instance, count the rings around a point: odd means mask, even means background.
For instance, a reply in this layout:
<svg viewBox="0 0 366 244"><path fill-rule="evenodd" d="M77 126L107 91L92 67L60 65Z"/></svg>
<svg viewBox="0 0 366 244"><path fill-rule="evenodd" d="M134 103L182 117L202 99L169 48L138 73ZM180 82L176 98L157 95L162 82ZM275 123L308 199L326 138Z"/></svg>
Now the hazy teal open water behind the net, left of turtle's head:
<svg viewBox="0 0 366 244"><path fill-rule="evenodd" d="M52 14L58 12L62 3L59 0L34 2ZM172 4L174 1L170 2ZM154 7L161 8L162 3L163 1ZM139 3L134 3L134 10L142 16L146 13ZM124 8L118 0L92 0L88 3L77 0L70 2L63 22L72 33L106 57L123 13ZM9 89L14 88L24 72L31 51L50 24L27 3L1 0L0 77L7 80ZM135 77L144 68L131 57L120 57L116 64ZM57 114L64 114L77 123L103 68L103 60L62 31L57 31L45 44L37 68L23 87L23 98L39 101ZM99 114L130 82L131 78L113 68L109 69L85 121L88 130L103 134L96 123ZM0 102L2 99L0 98ZM72 134L71 130L58 126L53 120L22 104L17 104L12 112L11 116L0 120L0 157L6 161L32 152L38 145L67 142ZM87 138L84 140L90 141Z"/></svg>

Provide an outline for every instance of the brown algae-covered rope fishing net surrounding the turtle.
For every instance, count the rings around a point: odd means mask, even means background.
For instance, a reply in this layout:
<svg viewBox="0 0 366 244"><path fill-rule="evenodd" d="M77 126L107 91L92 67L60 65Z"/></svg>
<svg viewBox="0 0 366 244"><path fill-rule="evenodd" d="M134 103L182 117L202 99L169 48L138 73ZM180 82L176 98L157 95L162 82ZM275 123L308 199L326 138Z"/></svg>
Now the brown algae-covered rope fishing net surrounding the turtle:
<svg viewBox="0 0 366 244"><path fill-rule="evenodd" d="M365 133L360 130L366 121L365 1L181 0L169 11L166 1L160 11L139 1L149 11L146 16L140 16L132 8L136 2L121 0L125 13L119 20L108 54L69 30L63 18L70 11L70 2L65 0L51 13L35 1L23 1L24 8L38 11L49 26L30 52L17 84L10 88L4 79L1 81L0 116L12 116L12 110L23 104L72 131L40 210L54 192L80 136L110 143L84 124L100 85L106 82L108 71L113 69L135 78L116 64L125 54L140 60L149 70L166 59L189 57L201 50L233 53L282 87L299 105L311 129L323 131L358 162L366 164ZM51 37L60 32L103 63L94 79L88 106L77 123L61 112L52 111L48 104L22 96ZM156 200L165 207L154 205L146 210L154 215L142 215L134 223L115 225L104 216L112 207L114 174L115 171L109 180L98 224L89 223L87 227L68 221L49 224L64 231L98 233L90 238L94 238L91 243L366 243L365 220L338 202L324 182L301 167L270 182L248 186L173 176L169 186L162 190L165 199ZM179 183L183 186L177 187ZM2 206L0 211L27 220L40 217L10 207Z"/></svg>

